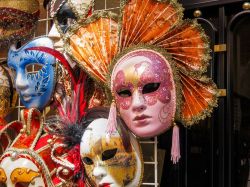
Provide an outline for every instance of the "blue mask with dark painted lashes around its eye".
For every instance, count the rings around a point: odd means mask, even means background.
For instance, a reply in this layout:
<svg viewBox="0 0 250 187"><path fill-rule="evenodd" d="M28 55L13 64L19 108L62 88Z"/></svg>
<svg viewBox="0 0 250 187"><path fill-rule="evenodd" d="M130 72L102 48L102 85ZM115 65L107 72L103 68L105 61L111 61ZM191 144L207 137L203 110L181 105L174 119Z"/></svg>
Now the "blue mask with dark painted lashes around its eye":
<svg viewBox="0 0 250 187"><path fill-rule="evenodd" d="M36 46L53 48L53 42L48 37L39 37L19 49L12 46L8 66L15 72L14 83L22 104L43 110L53 94L56 59L41 51L26 50Z"/></svg>

